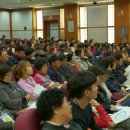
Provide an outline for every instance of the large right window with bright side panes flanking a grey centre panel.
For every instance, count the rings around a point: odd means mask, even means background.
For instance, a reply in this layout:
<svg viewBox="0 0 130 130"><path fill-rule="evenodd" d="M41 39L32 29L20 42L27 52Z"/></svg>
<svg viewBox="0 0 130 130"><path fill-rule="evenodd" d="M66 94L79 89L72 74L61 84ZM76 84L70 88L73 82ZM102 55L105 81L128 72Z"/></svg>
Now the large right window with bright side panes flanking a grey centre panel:
<svg viewBox="0 0 130 130"><path fill-rule="evenodd" d="M99 10L100 13L96 12L97 10ZM104 12L102 12L102 10ZM98 14L98 15L95 16L95 14ZM97 19L97 17L98 18L100 17L100 18ZM114 35L115 25L114 24L115 24L114 23L114 4L102 5L98 7L97 6L80 7L79 31L80 31L81 42L84 42L84 40L89 40L93 38L97 42L108 41L109 43L114 43L115 41L115 35ZM95 31L92 32L92 30L95 30ZM102 33L101 38L96 35L99 30L100 31L105 30L104 33Z"/></svg>

